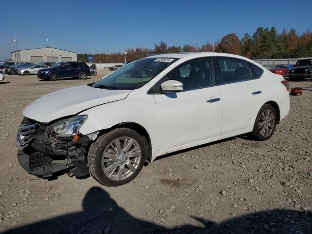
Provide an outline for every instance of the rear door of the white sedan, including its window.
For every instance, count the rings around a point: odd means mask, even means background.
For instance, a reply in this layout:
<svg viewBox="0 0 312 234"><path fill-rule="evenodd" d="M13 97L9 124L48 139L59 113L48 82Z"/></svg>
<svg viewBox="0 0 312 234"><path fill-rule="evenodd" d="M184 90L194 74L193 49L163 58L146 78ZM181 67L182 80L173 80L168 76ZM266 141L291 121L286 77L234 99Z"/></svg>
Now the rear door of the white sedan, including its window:
<svg viewBox="0 0 312 234"><path fill-rule="evenodd" d="M242 59L218 57L222 78L222 135L246 132L263 104L263 70Z"/></svg>

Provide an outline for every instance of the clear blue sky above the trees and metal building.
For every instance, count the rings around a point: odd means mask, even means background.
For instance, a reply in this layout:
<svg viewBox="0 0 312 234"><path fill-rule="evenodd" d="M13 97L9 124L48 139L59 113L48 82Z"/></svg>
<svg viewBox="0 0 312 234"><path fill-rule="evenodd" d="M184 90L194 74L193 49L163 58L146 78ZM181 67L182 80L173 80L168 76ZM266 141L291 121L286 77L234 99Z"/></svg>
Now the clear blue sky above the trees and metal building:
<svg viewBox="0 0 312 234"><path fill-rule="evenodd" d="M262 27L312 28L312 0L1 0L0 59L18 48L50 46L77 53L111 53L239 38Z"/></svg>

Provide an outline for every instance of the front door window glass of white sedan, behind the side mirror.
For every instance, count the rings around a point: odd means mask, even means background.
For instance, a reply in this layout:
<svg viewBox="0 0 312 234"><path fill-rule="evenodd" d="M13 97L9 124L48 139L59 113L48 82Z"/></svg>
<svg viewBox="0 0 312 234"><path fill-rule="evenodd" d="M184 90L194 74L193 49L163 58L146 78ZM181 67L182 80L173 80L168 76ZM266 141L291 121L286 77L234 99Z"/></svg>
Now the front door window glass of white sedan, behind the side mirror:
<svg viewBox="0 0 312 234"><path fill-rule="evenodd" d="M213 60L201 59L183 63L171 71L165 80L174 79L183 83L183 90L215 85Z"/></svg>

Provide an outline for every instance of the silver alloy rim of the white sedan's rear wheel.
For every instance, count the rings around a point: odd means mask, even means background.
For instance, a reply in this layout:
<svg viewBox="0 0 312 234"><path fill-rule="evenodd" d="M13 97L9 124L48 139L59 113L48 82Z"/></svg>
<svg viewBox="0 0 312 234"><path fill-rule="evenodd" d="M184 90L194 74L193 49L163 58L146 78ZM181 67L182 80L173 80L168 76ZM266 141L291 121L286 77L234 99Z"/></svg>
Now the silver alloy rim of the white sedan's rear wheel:
<svg viewBox="0 0 312 234"><path fill-rule="evenodd" d="M258 127L262 137L268 137L272 134L275 125L275 116L272 110L264 110L259 119Z"/></svg>

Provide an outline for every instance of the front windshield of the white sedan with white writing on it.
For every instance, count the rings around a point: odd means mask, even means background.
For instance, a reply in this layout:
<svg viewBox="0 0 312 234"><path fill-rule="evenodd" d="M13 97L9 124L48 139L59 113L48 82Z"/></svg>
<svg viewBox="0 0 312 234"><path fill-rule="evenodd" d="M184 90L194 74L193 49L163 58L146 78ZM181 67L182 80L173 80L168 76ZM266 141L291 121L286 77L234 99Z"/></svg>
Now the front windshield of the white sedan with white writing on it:
<svg viewBox="0 0 312 234"><path fill-rule="evenodd" d="M105 78L88 84L95 88L132 90L142 87L177 59L147 58L131 62Z"/></svg>

